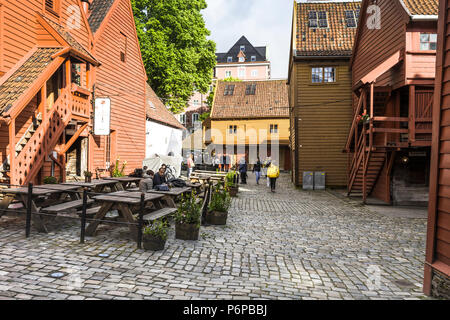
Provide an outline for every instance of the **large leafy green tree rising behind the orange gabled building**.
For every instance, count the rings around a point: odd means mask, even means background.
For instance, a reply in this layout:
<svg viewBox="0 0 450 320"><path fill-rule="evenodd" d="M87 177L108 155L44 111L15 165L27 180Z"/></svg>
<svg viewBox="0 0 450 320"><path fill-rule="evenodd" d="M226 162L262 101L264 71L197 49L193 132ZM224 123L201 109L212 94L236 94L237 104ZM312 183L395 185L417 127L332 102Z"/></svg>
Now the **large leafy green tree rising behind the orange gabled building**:
<svg viewBox="0 0 450 320"><path fill-rule="evenodd" d="M184 110L194 90L208 91L216 44L208 40L205 0L131 0L149 84L172 112Z"/></svg>

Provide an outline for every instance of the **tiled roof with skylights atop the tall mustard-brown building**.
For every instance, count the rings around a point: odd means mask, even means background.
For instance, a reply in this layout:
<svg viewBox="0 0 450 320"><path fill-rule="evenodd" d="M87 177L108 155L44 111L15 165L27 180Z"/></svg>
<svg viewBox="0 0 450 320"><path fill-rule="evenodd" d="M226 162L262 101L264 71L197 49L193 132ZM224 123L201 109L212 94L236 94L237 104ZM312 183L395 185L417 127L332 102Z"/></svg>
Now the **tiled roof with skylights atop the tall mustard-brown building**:
<svg viewBox="0 0 450 320"><path fill-rule="evenodd" d="M296 4L294 30L295 56L350 57L356 28L347 27L345 11L360 9L360 1L299 2ZM328 28L310 28L310 11L326 11Z"/></svg>

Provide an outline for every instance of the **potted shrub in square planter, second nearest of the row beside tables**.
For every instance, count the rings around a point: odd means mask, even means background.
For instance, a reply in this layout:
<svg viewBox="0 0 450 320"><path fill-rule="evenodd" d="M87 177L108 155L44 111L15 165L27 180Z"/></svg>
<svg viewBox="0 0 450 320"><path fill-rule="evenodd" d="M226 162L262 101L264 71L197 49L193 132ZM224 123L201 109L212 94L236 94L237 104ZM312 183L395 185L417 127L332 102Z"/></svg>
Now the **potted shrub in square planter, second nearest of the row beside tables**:
<svg viewBox="0 0 450 320"><path fill-rule="evenodd" d="M198 240L200 230L201 203L197 203L195 194L181 198L175 214L175 237L181 240Z"/></svg>

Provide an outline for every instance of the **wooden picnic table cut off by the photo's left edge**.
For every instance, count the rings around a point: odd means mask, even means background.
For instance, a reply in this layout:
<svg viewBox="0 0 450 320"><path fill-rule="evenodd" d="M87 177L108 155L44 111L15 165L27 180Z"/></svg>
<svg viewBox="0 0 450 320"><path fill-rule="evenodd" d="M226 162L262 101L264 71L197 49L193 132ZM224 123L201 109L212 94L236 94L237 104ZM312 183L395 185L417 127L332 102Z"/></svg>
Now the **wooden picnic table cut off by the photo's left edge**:
<svg viewBox="0 0 450 320"><path fill-rule="evenodd" d="M31 194L31 214L32 220L39 232L47 233L47 227L44 222L44 217L36 213L41 212L42 208L36 204L36 200L43 196L59 196L59 200L62 201L67 195L74 201L79 201L79 194L77 192L71 192L78 189L78 186L64 185L64 184L48 184L42 186L34 186ZM28 209L28 188L8 188L0 190L8 199L2 203L2 206L6 209L9 204L15 199L23 204L25 209ZM12 195L12 196L10 196ZM4 199L5 200L5 199ZM57 213L56 213L57 214Z"/></svg>

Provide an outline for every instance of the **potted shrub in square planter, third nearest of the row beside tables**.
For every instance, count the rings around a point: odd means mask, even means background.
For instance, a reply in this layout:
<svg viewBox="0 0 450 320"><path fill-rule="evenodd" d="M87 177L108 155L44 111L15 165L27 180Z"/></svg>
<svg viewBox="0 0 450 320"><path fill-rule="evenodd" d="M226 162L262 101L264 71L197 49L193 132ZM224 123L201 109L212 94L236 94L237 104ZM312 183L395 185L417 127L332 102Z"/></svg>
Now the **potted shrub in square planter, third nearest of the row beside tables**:
<svg viewBox="0 0 450 320"><path fill-rule="evenodd" d="M206 223L211 225L227 224L228 209L231 205L231 197L225 188L216 187L211 196L211 201L206 214Z"/></svg>

